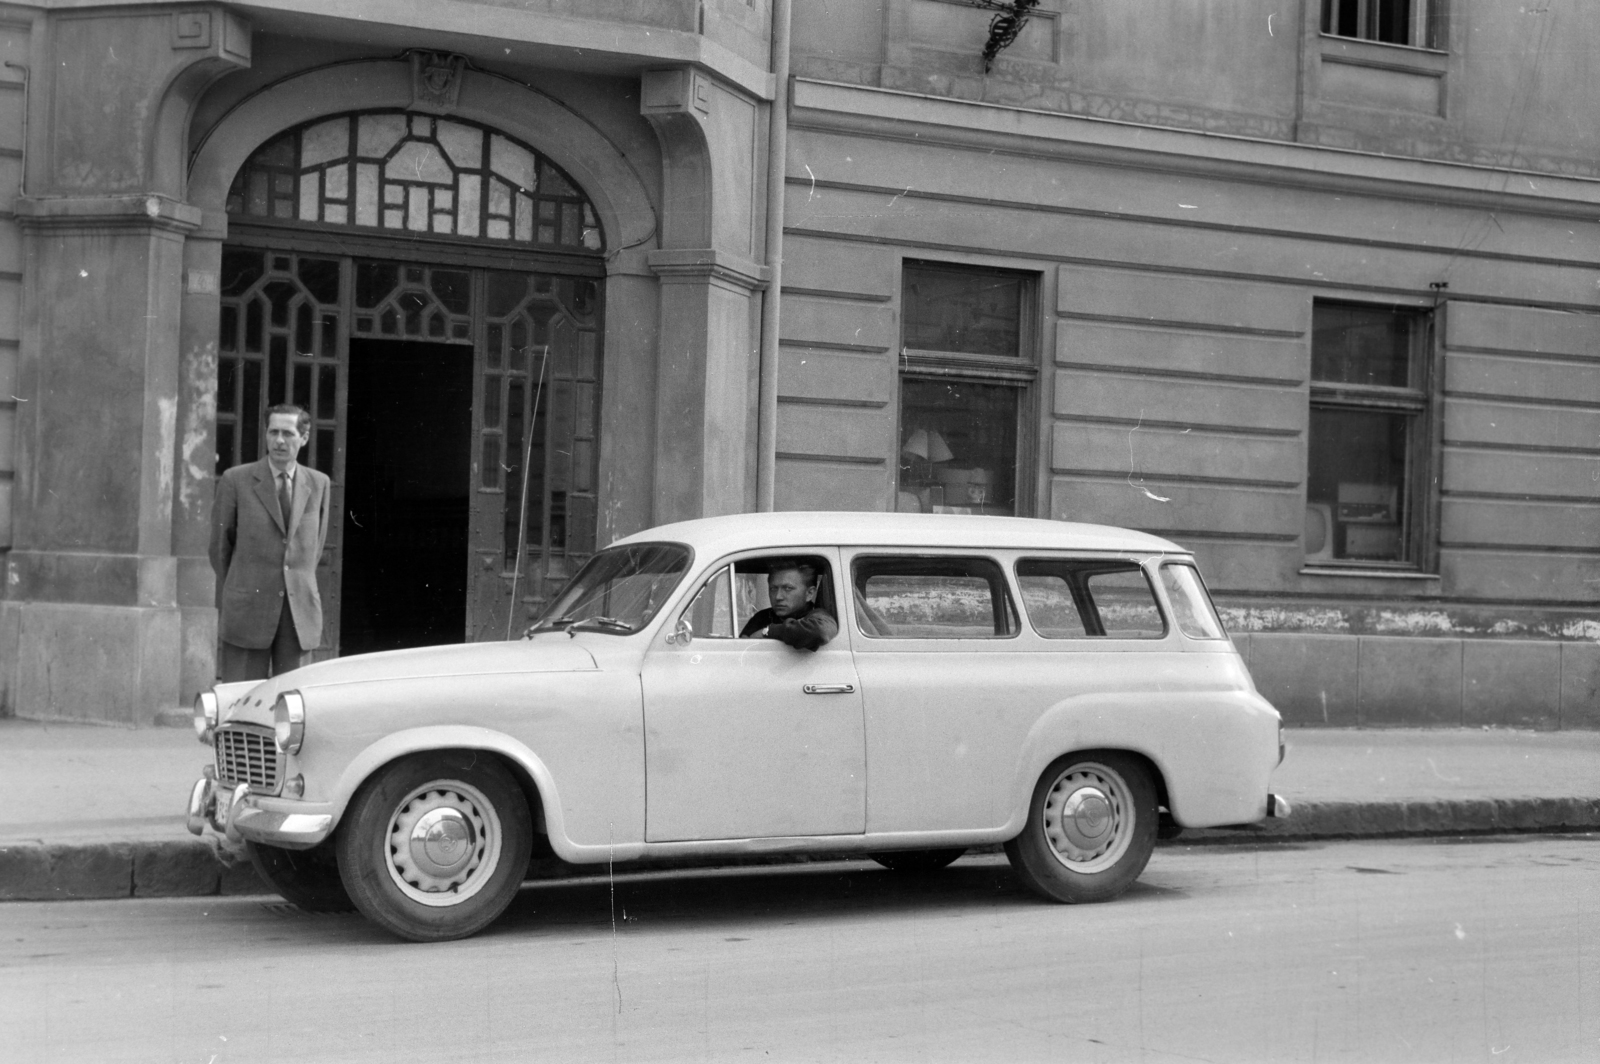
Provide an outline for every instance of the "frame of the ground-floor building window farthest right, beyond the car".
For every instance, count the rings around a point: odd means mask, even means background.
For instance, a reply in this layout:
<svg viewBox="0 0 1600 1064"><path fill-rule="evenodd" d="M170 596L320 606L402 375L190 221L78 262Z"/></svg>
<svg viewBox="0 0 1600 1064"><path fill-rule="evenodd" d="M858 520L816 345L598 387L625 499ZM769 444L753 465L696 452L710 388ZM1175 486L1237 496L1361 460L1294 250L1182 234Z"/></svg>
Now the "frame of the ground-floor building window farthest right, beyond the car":
<svg viewBox="0 0 1600 1064"><path fill-rule="evenodd" d="M1320 307L1355 307L1363 310L1389 310L1418 322L1410 352L1410 384L1394 387L1384 384L1349 384L1318 381L1315 373L1317 310ZM1304 530L1299 536L1301 573L1312 574L1435 574L1438 571L1438 483L1434 475L1440 469L1443 427L1442 395L1438 394L1438 338L1440 309L1427 302L1374 302L1342 298L1315 298L1312 301L1312 328L1307 342L1307 403L1306 403L1306 480L1301 501L1309 509L1312 467L1310 414L1317 410L1403 414L1410 419L1405 443L1405 472L1402 475L1402 554L1400 560L1376 558L1312 558L1306 554ZM1333 534L1330 526L1328 534Z"/></svg>

